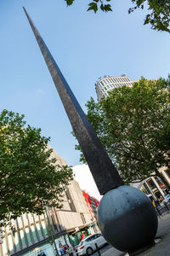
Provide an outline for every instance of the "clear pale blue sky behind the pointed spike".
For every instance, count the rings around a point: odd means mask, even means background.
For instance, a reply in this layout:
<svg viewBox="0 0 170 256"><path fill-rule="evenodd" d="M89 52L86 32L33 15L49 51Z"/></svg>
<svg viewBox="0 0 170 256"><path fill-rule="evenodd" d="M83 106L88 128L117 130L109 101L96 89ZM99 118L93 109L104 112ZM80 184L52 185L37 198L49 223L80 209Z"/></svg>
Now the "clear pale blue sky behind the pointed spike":
<svg viewBox="0 0 170 256"><path fill-rule="evenodd" d="M127 14L128 0L113 2L113 12L87 12L88 0L0 0L0 111L24 113L42 128L68 162L79 163L71 125L59 100L22 9L25 6L83 109L94 83L104 75L130 79L167 78L170 36L143 26L144 11Z"/></svg>

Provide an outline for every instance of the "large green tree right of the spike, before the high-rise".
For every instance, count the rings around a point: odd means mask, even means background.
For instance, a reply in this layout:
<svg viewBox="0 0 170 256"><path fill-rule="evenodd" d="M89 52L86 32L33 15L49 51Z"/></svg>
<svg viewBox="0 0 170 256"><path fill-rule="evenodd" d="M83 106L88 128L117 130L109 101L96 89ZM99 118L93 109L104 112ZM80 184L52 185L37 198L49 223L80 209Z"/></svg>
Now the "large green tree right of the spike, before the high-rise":
<svg viewBox="0 0 170 256"><path fill-rule="evenodd" d="M169 85L170 77L142 78L132 87L111 90L100 102L91 98L86 105L90 123L127 184L155 172L169 188L159 172L170 166Z"/></svg>

